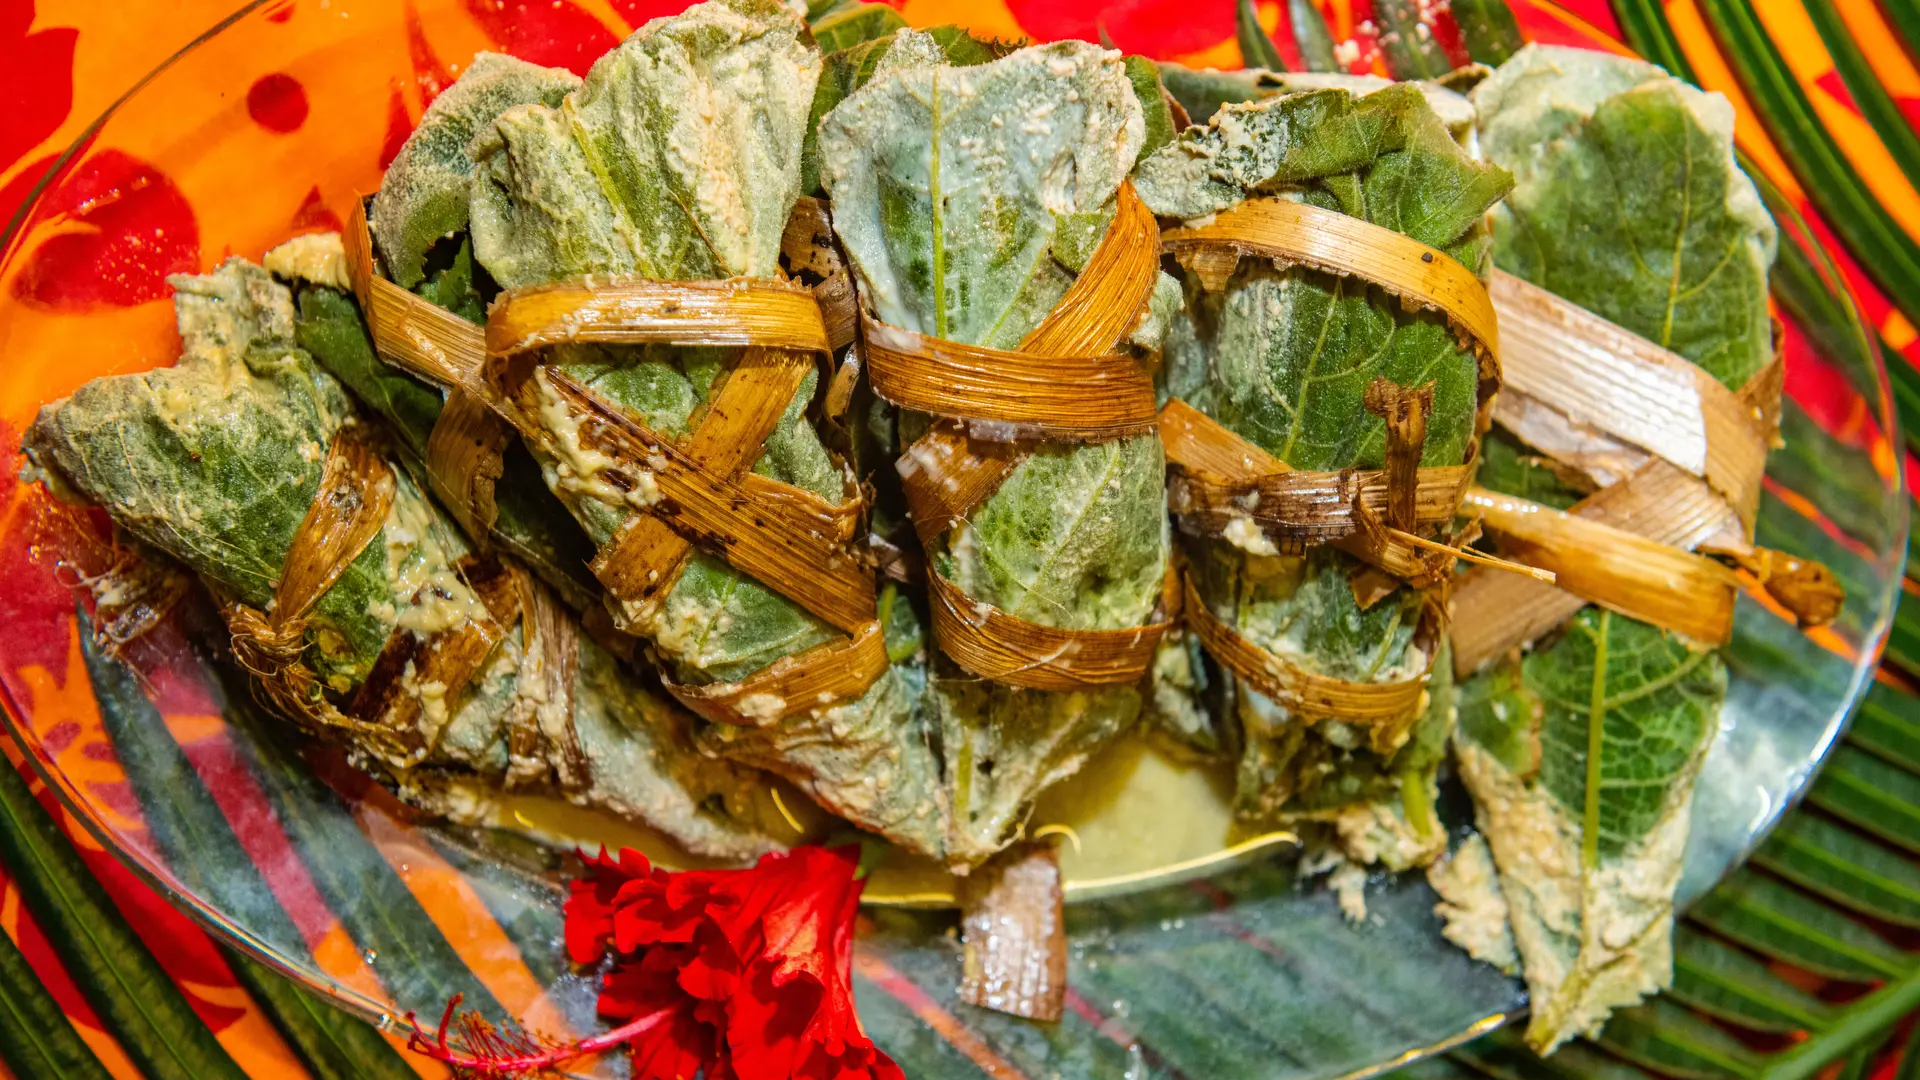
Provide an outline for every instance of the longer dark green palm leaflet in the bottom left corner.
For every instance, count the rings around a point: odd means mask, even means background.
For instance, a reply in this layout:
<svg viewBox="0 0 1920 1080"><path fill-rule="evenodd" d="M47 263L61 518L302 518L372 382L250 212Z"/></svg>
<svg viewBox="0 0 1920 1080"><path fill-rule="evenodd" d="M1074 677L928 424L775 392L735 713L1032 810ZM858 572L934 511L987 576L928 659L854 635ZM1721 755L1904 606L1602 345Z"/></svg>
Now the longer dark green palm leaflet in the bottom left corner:
<svg viewBox="0 0 1920 1080"><path fill-rule="evenodd" d="M106 888L0 761L0 865L60 963L127 1057L152 1080L246 1080L213 1032L146 951Z"/></svg>

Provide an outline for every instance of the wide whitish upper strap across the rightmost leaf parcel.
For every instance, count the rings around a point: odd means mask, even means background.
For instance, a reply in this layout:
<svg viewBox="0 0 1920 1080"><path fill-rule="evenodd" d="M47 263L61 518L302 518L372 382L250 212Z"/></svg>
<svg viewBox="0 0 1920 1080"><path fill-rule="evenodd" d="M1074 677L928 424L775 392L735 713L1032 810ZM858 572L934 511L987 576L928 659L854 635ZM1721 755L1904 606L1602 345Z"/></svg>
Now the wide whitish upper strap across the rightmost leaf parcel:
<svg viewBox="0 0 1920 1080"><path fill-rule="evenodd" d="M1492 296L1505 334L1501 425L1576 465L1594 454L1596 432L1663 457L1703 479L1753 534L1778 373L1757 380L1757 394L1736 394L1686 357L1519 277L1496 271ZM1540 417L1534 404L1559 415Z"/></svg>

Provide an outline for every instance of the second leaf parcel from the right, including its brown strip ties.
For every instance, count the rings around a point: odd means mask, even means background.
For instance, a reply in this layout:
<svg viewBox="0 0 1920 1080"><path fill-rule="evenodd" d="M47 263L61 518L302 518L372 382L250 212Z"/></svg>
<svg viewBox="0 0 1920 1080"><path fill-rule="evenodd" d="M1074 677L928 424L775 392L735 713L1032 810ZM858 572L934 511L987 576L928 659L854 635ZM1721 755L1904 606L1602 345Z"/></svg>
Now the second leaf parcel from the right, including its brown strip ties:
<svg viewBox="0 0 1920 1080"><path fill-rule="evenodd" d="M1446 844L1428 586L1500 382L1484 215L1511 179L1421 88L1359 88L1227 104L1135 183L1179 223L1160 429L1187 623L1227 676L1183 734L1238 749L1242 819L1398 869Z"/></svg>

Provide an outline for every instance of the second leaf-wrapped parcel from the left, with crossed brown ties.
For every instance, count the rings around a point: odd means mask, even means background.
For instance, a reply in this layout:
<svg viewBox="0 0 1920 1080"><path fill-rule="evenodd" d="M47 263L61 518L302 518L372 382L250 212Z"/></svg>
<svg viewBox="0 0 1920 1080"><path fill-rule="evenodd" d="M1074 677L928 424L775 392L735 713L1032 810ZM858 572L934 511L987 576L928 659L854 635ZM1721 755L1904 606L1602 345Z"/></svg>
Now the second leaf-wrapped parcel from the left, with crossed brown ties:
<svg viewBox="0 0 1920 1080"><path fill-rule="evenodd" d="M505 98L468 98L474 136L440 169L468 179L465 217L417 198L432 184L409 169L372 234L392 267L409 238L465 227L505 290L484 338L371 273L369 252L353 261L382 356L526 440L597 550L614 621L703 717L703 748L937 855L937 763L916 680L889 663L864 498L810 419L847 327L793 281L820 265L781 273L783 240L826 238L816 208L810 229L793 213L818 77L787 8L714 0L647 23L557 100L488 115ZM480 434L497 423L478 417L467 442L501 438ZM444 488L472 488L490 457Z"/></svg>

